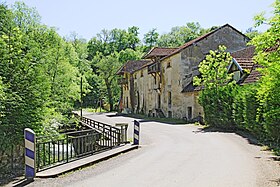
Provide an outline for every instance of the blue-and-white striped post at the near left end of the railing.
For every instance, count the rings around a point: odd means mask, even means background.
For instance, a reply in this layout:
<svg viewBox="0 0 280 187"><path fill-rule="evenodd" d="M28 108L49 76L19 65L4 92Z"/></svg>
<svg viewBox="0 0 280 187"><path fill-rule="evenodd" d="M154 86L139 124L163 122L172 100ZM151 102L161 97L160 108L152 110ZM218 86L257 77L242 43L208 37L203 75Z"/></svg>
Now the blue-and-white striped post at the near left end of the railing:
<svg viewBox="0 0 280 187"><path fill-rule="evenodd" d="M25 178L33 180L36 176L36 151L35 151L36 136L33 130L24 129L24 144L25 144Z"/></svg>

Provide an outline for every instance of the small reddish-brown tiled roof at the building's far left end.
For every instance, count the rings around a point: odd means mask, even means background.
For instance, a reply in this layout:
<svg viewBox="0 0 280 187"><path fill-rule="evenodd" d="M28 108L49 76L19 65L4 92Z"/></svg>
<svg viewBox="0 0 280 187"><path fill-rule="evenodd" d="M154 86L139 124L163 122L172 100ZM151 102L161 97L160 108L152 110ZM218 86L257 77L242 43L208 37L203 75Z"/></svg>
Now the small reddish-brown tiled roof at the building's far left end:
<svg viewBox="0 0 280 187"><path fill-rule="evenodd" d="M121 75L124 72L133 73L150 62L150 60L129 60L119 69L117 74Z"/></svg>

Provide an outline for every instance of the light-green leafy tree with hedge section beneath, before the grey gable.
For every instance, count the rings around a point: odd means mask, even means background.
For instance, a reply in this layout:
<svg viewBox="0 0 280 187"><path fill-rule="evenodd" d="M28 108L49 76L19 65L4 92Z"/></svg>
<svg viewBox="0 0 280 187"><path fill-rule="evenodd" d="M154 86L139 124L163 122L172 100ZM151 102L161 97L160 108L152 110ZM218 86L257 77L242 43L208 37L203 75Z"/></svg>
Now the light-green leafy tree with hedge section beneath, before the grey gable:
<svg viewBox="0 0 280 187"><path fill-rule="evenodd" d="M194 77L194 83L202 87L199 102L203 106L205 122L210 126L233 128L232 118L233 93L235 90L232 75L227 67L232 57L226 52L225 46L219 46L210 51L205 60L199 64L199 77Z"/></svg>

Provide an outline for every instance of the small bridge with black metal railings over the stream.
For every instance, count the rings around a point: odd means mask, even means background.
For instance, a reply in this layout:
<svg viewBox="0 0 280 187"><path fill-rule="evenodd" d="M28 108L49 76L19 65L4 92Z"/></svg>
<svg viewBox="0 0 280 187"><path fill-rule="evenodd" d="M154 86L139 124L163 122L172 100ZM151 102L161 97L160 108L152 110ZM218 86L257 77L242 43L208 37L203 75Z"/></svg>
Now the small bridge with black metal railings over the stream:
<svg viewBox="0 0 280 187"><path fill-rule="evenodd" d="M35 138L34 168L38 177L50 176L52 174L49 174L49 170L55 168L53 170L60 171L62 165L67 163L74 165L70 168L75 169L82 166L78 160L87 159L86 162L90 162L104 158L110 150L117 154L135 148L126 146L130 143L127 140L127 124L119 124L117 127L86 117L79 118L80 130ZM80 163L84 163L84 160Z"/></svg>

